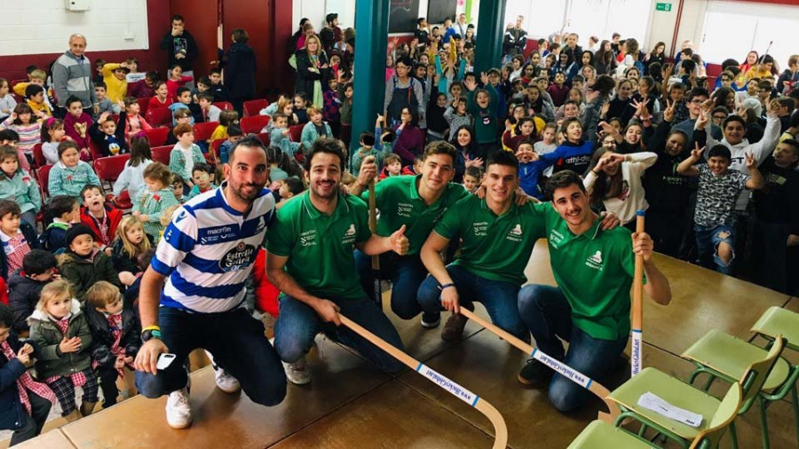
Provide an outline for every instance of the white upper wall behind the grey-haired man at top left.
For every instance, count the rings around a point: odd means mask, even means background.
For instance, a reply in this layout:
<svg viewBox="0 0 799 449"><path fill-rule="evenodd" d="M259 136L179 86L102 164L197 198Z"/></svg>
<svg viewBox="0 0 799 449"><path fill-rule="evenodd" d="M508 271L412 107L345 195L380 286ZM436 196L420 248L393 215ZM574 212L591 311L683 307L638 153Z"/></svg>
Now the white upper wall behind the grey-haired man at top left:
<svg viewBox="0 0 799 449"><path fill-rule="evenodd" d="M69 12L65 0L0 0L0 55L57 53L67 36L86 36L89 51L146 50L146 0L88 0L89 11Z"/></svg>

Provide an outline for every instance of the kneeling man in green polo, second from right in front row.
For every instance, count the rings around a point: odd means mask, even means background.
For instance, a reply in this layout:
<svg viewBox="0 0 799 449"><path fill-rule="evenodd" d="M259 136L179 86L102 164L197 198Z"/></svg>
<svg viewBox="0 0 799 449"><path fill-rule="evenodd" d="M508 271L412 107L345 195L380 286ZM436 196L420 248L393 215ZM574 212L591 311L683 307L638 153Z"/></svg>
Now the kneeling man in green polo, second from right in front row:
<svg viewBox="0 0 799 449"><path fill-rule="evenodd" d="M548 206L516 204L518 160L512 153L488 158L485 179L485 198L471 195L455 203L424 243L422 261L431 275L419 287L419 303L426 312L442 307L455 312L441 333L445 340L463 334L460 307L472 310L479 301L494 324L529 342L518 314L518 290L535 240L544 236L542 210ZM463 241L460 256L445 266L439 253L457 239Z"/></svg>

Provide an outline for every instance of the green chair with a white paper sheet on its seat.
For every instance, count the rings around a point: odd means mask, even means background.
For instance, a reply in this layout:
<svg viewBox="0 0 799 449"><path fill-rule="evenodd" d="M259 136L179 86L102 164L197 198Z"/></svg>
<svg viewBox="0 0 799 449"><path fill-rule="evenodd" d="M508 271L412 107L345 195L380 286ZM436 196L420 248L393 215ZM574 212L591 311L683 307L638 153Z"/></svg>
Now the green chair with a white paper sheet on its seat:
<svg viewBox="0 0 799 449"><path fill-rule="evenodd" d="M737 401L739 406L732 407L732 419L729 421L730 437L734 448L738 447L734 417L740 409L741 401L746 402L760 391L782 348L783 339L778 335L767 356L748 366L748 369L741 375L740 389L742 391L742 399ZM733 384L732 389L734 388ZM663 398L669 404L700 414L704 418L700 427L694 428L637 406L638 398L641 398L641 395L647 391L653 392L653 394ZM729 396L730 392L728 391L727 395L724 396L724 402L720 401L706 391L696 389L692 385L664 374L657 369L647 367L640 374L614 390L608 398L621 406L621 415L616 420L617 427L625 419L632 418L642 424L638 436L643 437L646 429L653 427L665 437L674 439L679 445L687 448L697 437L708 433L711 423L717 421L710 419L710 417L716 417L717 413L721 413L719 409L722 405L724 405L724 411L729 412L730 401L727 400ZM718 435L718 438L721 438L721 435ZM717 444L717 440L715 443L711 443Z"/></svg>

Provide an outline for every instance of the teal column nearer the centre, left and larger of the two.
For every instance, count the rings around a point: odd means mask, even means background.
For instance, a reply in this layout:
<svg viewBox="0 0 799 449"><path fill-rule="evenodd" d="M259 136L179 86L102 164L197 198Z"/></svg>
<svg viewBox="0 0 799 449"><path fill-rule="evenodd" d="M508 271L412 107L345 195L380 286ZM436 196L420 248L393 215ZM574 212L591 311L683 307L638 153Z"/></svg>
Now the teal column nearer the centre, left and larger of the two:
<svg viewBox="0 0 799 449"><path fill-rule="evenodd" d="M355 70L352 81L354 91L350 154L360 147L360 133L374 131L377 114L383 114L388 12L388 0L364 0L355 4Z"/></svg>

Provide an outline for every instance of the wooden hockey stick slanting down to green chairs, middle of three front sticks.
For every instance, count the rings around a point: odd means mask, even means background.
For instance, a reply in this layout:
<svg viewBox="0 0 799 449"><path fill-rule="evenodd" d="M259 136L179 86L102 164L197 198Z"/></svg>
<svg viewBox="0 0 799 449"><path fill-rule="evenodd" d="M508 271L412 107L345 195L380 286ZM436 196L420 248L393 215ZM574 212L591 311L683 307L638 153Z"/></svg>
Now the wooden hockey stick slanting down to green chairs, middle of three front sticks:
<svg viewBox="0 0 799 449"><path fill-rule="evenodd" d="M556 358L551 358L547 354L543 353L542 351L538 351L538 348L534 348L529 343L522 342L518 337L514 335L510 335L508 332L502 330L500 327L497 327L493 323L488 322L486 319L480 318L476 315L473 311L466 309L465 307L461 307L461 314L464 317L471 319L475 323L479 324L482 327L487 328L494 334L498 335L502 340L516 346L519 350L524 351L526 354L530 354L533 358L540 361L542 364L549 366L556 373L565 376L572 382L581 385L582 388L589 390L590 392L597 395L597 398L600 398L602 402L605 403L607 409L610 413L605 414L604 412L599 412L599 419L605 422L609 422L613 424L616 418L621 414L621 410L619 406L613 402L612 400L608 399L607 397L610 395L610 391L607 390L601 383L594 381L589 376L582 374L581 372L575 370L571 366L566 365L565 363L559 361Z"/></svg>

